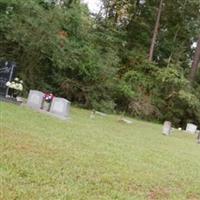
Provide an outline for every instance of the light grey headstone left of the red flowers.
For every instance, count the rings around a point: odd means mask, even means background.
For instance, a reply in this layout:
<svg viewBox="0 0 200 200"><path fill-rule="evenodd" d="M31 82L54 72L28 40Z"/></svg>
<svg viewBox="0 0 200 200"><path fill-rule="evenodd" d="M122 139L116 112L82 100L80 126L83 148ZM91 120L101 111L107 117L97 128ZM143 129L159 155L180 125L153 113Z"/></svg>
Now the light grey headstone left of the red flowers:
<svg viewBox="0 0 200 200"><path fill-rule="evenodd" d="M37 90L30 90L27 105L31 108L41 109L44 93Z"/></svg>

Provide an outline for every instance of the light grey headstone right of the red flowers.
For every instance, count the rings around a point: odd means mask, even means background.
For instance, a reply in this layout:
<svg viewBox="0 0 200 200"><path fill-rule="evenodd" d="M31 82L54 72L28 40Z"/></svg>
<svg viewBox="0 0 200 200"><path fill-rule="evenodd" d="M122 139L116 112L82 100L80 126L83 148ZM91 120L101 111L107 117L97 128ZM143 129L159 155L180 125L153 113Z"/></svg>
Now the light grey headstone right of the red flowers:
<svg viewBox="0 0 200 200"><path fill-rule="evenodd" d="M70 102L63 98L54 97L50 107L50 113L66 119L69 117Z"/></svg>

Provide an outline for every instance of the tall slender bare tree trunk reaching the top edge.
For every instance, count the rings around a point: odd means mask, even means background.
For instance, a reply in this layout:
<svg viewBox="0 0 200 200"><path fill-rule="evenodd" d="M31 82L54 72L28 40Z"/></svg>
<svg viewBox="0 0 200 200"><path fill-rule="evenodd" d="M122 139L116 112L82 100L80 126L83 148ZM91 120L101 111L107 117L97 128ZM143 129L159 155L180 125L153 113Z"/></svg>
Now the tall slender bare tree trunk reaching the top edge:
<svg viewBox="0 0 200 200"><path fill-rule="evenodd" d="M161 13L162 13L163 1L164 0L160 0L156 24L155 24L155 27L154 27L153 37L152 37L152 40L151 40L151 47L150 47L150 50L149 50L149 61L150 62L153 60L153 53L154 53L156 39L157 39L157 35L158 35L158 28L160 26L160 17L161 17Z"/></svg>

